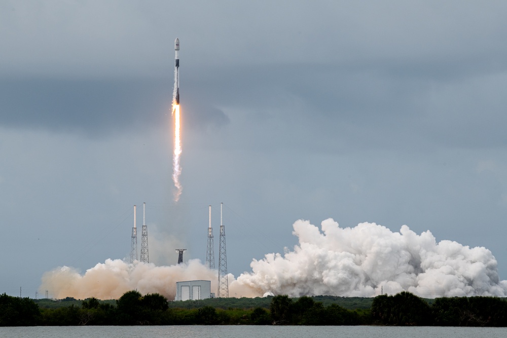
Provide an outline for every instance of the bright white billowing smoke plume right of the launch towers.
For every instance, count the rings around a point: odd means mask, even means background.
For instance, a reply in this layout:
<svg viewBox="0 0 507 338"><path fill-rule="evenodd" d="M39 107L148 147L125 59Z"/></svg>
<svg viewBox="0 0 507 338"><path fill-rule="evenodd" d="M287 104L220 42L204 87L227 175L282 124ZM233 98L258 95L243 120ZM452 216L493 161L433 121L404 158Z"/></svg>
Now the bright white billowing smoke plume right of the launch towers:
<svg viewBox="0 0 507 338"><path fill-rule="evenodd" d="M299 245L283 255L253 260L251 273L236 283L274 294L375 296L403 290L422 297L507 295L497 262L484 247L438 242L429 232L417 235L375 223L340 228L333 219L294 223Z"/></svg>

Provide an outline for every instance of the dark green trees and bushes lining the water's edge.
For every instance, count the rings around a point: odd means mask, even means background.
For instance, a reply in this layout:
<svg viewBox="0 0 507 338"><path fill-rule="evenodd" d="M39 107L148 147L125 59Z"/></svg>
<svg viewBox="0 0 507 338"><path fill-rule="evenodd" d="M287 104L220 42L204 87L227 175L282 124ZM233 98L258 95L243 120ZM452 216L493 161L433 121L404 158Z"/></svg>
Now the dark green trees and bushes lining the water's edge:
<svg viewBox="0 0 507 338"><path fill-rule="evenodd" d="M498 297L441 297L432 300L432 304L429 305L423 298L410 292L400 292L395 295L379 295L373 298L371 308L355 310L334 303L323 303L322 299L322 296L289 298L287 295L277 295L269 297L269 307L266 303L266 307L224 308L201 304L200 307L191 308L188 302L168 302L167 298L158 293L143 296L138 291L132 290L124 293L116 304L88 298L80 301L79 306L75 304L76 299L71 298L63 299L72 303L70 306L40 308L33 299L12 297L4 293L0 295L0 326L195 324L507 326L507 302L504 298ZM223 301L225 299L221 302ZM177 307L178 305L180 307Z"/></svg>

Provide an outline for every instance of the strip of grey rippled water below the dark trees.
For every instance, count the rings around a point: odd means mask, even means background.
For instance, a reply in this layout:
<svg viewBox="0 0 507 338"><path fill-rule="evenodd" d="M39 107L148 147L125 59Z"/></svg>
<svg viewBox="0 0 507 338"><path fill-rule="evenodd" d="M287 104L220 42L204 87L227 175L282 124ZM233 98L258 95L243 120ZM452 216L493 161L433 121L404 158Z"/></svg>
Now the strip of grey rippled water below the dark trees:
<svg viewBox="0 0 507 338"><path fill-rule="evenodd" d="M248 337L371 337L371 338L504 338L507 327L393 327L393 326L33 326L0 327L0 337L53 338L248 338Z"/></svg>

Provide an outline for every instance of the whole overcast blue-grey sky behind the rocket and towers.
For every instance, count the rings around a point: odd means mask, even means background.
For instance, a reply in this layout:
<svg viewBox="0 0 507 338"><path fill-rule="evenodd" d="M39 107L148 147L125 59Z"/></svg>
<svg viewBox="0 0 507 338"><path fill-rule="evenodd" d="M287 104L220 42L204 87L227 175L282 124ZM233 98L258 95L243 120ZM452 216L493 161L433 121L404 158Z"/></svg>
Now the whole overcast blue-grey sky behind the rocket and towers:
<svg viewBox="0 0 507 338"><path fill-rule="evenodd" d="M484 246L507 279L507 3L0 0L0 292L130 254L283 252L298 219ZM174 39L183 194L172 201ZM139 240L140 243L140 240ZM40 295L41 296L41 295Z"/></svg>

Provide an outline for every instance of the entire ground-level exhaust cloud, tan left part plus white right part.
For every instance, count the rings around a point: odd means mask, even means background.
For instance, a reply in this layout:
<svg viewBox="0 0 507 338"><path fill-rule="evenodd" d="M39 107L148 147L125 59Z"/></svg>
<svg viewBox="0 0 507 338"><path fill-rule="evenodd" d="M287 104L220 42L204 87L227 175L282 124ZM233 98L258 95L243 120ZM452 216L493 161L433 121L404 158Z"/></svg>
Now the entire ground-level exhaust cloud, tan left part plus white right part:
<svg viewBox="0 0 507 338"><path fill-rule="evenodd" d="M507 281L500 281L497 262L484 247L470 248L452 241L438 242L429 232L417 235L407 226L400 232L375 223L340 228L333 219L321 230L309 221L294 223L299 238L294 250L266 254L253 260L252 272L234 280L229 274L231 297L262 296L266 292L302 295L372 297L403 290L422 297L507 296ZM129 290L160 293L174 299L176 282L210 280L217 288L217 271L198 259L187 264L154 264L107 259L80 275L63 267L43 275L41 290L55 298L119 298Z"/></svg>

